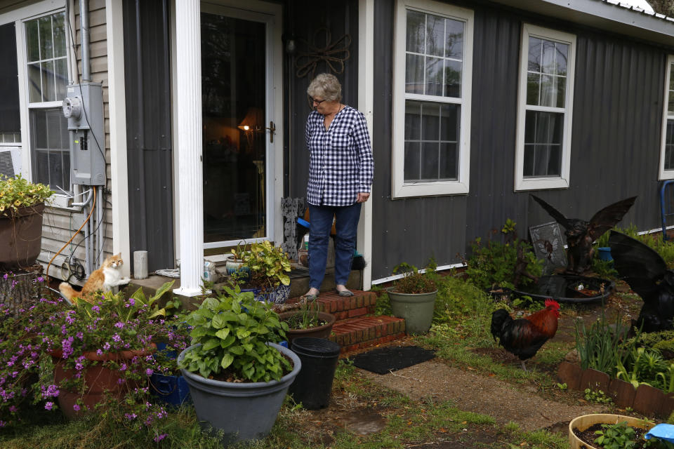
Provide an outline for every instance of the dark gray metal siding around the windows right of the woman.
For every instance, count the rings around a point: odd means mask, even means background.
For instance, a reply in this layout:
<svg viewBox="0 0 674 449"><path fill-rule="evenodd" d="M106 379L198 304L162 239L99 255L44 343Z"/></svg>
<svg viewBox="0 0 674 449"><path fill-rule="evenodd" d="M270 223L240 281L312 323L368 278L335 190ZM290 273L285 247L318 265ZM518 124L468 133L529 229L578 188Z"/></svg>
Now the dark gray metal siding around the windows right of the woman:
<svg viewBox="0 0 674 449"><path fill-rule="evenodd" d="M475 237L487 239L507 218L527 228L552 218L513 192L517 79L522 22L576 35L576 78L569 189L532 192L567 217L586 220L600 208L638 195L621 225L659 227L658 164L667 49L551 21L482 2L475 11L470 192L392 201L392 41L394 4L375 4L372 278L399 262L460 262Z"/></svg>

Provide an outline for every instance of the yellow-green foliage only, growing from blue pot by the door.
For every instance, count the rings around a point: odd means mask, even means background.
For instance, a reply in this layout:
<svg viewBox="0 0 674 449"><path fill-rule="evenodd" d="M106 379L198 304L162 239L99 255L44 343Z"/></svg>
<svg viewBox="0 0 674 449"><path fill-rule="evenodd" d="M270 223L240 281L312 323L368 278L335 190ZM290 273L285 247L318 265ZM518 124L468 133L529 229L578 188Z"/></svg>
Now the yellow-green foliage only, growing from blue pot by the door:
<svg viewBox="0 0 674 449"><path fill-rule="evenodd" d="M268 240L251 243L249 249L239 248L232 250L237 259L244 262L244 269L239 270L242 277L248 278L248 283L253 288L265 291L274 290L280 284L290 285L290 259L278 246L273 246Z"/></svg>

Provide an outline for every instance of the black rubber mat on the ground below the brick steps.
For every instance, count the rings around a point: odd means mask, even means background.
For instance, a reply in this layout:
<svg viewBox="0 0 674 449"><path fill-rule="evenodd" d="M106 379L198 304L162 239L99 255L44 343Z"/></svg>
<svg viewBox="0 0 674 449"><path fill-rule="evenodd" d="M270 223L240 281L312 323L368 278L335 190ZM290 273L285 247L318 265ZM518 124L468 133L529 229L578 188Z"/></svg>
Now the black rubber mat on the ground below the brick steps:
<svg viewBox="0 0 674 449"><path fill-rule="evenodd" d="M435 357L435 351L418 346L393 346L373 349L353 356L350 360L354 366L377 374L401 370Z"/></svg>

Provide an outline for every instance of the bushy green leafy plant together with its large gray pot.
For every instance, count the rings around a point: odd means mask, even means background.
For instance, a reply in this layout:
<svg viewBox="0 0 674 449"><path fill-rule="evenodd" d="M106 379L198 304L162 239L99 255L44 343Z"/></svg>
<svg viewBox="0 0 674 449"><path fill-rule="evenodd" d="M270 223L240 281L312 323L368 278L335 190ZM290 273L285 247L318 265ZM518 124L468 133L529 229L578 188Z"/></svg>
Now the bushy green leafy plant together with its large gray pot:
<svg viewBox="0 0 674 449"><path fill-rule="evenodd" d="M269 434L300 359L276 344L287 326L272 304L223 287L187 316L192 346L178 356L197 418L224 443Z"/></svg>

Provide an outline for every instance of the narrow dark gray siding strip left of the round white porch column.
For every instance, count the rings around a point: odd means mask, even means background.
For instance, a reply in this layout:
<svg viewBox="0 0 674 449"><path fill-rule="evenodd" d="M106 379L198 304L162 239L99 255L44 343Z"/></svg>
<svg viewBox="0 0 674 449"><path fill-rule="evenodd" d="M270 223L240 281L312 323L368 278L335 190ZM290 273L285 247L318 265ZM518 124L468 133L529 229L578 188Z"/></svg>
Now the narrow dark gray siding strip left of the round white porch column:
<svg viewBox="0 0 674 449"><path fill-rule="evenodd" d="M169 23L168 0L124 0L131 252L150 272L174 263Z"/></svg>

